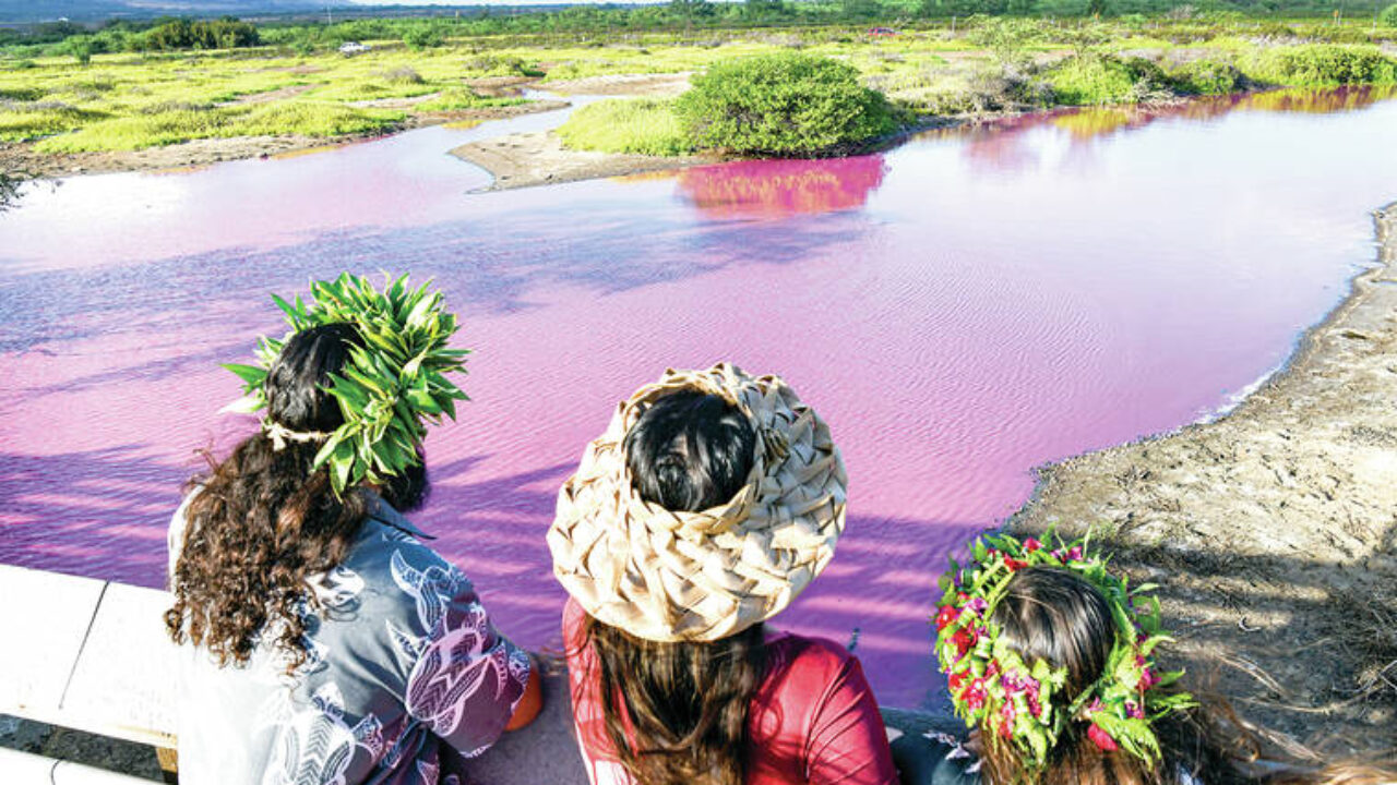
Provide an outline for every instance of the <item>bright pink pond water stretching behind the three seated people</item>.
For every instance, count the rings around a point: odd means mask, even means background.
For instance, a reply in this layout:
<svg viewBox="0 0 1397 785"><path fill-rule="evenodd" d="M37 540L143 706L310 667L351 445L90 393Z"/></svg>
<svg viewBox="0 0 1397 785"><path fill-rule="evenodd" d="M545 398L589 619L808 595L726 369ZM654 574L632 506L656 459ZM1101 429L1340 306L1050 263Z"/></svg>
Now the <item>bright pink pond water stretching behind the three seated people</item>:
<svg viewBox="0 0 1397 785"><path fill-rule="evenodd" d="M543 532L615 402L666 366L784 374L830 420L848 534L777 626L856 637L926 705L937 570L1032 468L1208 416L1373 258L1397 101L1260 96L946 131L883 155L507 193L426 129L285 161L112 175L0 215L0 562L159 585L165 524L268 292L434 277L474 402L419 522L499 624L557 643ZM543 127L557 116L513 122ZM855 636L856 631L856 636Z"/></svg>

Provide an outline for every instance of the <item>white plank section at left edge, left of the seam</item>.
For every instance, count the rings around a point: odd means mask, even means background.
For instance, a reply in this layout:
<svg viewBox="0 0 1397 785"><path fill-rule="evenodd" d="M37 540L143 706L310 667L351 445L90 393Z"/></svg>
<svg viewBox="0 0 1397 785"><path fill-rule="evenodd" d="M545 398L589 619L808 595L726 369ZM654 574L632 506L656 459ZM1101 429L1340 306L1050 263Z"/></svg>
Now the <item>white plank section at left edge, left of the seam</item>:
<svg viewBox="0 0 1397 785"><path fill-rule="evenodd" d="M105 584L0 564L0 714L57 722Z"/></svg>

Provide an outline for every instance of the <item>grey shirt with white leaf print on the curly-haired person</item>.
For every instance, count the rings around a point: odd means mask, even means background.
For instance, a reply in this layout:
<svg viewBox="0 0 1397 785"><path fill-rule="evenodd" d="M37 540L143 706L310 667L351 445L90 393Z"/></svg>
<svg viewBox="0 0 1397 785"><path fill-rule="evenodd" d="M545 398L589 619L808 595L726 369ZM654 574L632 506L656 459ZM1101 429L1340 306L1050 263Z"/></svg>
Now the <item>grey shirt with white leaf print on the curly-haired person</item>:
<svg viewBox="0 0 1397 785"><path fill-rule="evenodd" d="M187 504L170 521L172 574ZM454 779L439 744L472 757L504 731L528 655L422 532L381 500L372 510L344 563L307 578L320 609L295 676L270 644L228 668L183 647L180 782L434 785Z"/></svg>

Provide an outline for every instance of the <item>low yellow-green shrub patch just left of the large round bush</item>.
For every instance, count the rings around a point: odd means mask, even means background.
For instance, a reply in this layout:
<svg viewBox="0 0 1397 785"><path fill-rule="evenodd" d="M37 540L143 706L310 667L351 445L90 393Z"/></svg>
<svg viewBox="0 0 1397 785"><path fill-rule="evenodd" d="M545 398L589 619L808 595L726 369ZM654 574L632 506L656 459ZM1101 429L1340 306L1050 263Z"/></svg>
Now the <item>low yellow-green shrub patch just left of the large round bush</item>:
<svg viewBox="0 0 1397 785"><path fill-rule="evenodd" d="M573 112L557 129L557 135L573 149L641 155L693 152L671 101L613 98L588 103Z"/></svg>

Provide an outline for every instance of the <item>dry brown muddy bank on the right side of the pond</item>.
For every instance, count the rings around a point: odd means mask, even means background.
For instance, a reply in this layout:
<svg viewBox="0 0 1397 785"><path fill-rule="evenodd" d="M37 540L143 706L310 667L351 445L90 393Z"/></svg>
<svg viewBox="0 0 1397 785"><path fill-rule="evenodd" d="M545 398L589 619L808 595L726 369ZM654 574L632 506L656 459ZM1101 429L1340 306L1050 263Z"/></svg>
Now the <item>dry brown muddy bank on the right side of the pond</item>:
<svg viewBox="0 0 1397 785"><path fill-rule="evenodd" d="M1218 422L1051 465L1016 532L1097 536L1161 585L1171 656L1329 751L1397 726L1397 204L1377 267Z"/></svg>

